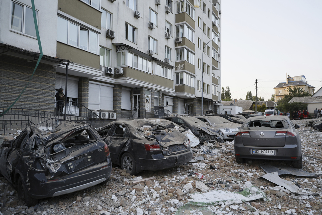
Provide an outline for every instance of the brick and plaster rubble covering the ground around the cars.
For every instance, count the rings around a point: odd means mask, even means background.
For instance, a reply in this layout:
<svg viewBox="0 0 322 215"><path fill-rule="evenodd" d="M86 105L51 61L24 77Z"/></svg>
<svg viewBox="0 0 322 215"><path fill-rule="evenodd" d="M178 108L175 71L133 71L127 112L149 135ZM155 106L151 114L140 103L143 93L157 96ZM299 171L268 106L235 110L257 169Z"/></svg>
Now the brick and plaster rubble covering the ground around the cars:
<svg viewBox="0 0 322 215"><path fill-rule="evenodd" d="M113 166L108 182L40 200L30 208L20 205L17 192L10 185L4 192L8 181L0 177L1 213L318 215L322 213L322 132L306 127L306 120L293 122L300 126L302 170L315 173L316 177L292 174L277 177L284 183L289 181L288 184L298 186L298 190L303 191L301 194L261 178L267 174L261 164L291 167L291 162L250 160L238 164L233 141L205 142L192 148L193 160L185 165L163 171L143 171L136 176Z"/></svg>

